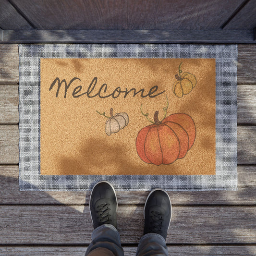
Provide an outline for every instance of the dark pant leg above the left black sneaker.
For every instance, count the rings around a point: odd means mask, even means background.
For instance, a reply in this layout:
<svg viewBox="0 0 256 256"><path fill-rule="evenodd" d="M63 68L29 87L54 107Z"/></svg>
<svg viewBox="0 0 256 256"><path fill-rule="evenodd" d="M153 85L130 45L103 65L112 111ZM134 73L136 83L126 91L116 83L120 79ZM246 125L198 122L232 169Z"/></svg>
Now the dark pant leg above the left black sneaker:
<svg viewBox="0 0 256 256"><path fill-rule="evenodd" d="M93 231L85 256L96 255L124 256L119 233L113 225L101 225Z"/></svg>

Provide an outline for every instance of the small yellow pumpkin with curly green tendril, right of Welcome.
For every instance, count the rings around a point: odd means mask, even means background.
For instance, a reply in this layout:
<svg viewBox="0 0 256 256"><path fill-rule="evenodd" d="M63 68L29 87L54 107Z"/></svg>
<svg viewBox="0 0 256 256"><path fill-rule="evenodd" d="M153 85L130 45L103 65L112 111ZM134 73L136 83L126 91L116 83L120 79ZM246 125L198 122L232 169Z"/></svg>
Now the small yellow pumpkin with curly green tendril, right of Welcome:
<svg viewBox="0 0 256 256"><path fill-rule="evenodd" d="M179 98L189 94L196 85L195 75L188 72L183 73L181 65L182 62L179 65L179 74L175 74L177 81L172 86L173 93Z"/></svg>

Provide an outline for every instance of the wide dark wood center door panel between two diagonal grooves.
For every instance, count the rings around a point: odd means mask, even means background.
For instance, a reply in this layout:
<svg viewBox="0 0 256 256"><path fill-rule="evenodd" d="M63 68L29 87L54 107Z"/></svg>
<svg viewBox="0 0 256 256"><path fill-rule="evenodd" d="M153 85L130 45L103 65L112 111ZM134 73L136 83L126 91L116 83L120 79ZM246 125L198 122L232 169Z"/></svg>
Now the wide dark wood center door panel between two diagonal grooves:
<svg viewBox="0 0 256 256"><path fill-rule="evenodd" d="M219 29L243 0L12 0L38 29ZM27 8L29 6L29 8ZM38 15L40 13L40 15Z"/></svg>

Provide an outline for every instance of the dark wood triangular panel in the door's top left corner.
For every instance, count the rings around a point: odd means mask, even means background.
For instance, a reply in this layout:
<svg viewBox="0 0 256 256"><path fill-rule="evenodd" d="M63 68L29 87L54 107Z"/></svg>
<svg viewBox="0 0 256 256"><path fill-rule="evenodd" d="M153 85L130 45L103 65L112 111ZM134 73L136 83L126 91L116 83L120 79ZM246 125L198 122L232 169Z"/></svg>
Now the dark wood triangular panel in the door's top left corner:
<svg viewBox="0 0 256 256"><path fill-rule="evenodd" d="M2 29L31 29L30 24L8 0L0 0L0 27Z"/></svg>

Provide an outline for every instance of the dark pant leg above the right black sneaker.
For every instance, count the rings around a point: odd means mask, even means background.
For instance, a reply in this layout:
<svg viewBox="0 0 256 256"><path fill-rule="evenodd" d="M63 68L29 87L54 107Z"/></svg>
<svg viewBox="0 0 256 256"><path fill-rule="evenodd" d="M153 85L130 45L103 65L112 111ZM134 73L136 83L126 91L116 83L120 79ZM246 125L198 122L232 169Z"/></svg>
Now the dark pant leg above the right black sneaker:
<svg viewBox="0 0 256 256"><path fill-rule="evenodd" d="M168 256L164 238L156 233L144 235L138 245L136 256Z"/></svg>

